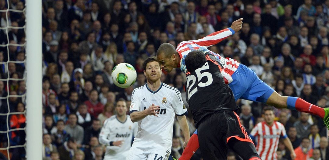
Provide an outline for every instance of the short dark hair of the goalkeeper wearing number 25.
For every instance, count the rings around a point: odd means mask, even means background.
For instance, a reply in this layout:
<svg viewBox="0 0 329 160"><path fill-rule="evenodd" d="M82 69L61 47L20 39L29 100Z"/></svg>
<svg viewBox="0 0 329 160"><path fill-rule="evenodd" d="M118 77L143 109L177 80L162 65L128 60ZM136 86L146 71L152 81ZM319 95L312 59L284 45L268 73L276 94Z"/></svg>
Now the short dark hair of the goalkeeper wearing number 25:
<svg viewBox="0 0 329 160"><path fill-rule="evenodd" d="M204 53L199 50L193 50L185 58L186 69L189 72L193 72L201 67L206 61Z"/></svg>

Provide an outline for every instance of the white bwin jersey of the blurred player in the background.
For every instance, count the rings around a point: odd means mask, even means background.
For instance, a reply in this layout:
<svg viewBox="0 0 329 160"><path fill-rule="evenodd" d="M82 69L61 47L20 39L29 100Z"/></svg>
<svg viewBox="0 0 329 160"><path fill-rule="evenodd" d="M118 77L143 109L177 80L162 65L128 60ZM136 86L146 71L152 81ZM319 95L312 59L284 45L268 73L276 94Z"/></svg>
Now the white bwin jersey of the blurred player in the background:
<svg viewBox="0 0 329 160"><path fill-rule="evenodd" d="M127 157L133 135L136 135L138 126L131 122L130 116L127 115L125 122L120 122L116 115L104 121L101 132L99 133L99 142L106 145L104 160L124 160ZM121 147L110 146L110 142L123 141Z"/></svg>

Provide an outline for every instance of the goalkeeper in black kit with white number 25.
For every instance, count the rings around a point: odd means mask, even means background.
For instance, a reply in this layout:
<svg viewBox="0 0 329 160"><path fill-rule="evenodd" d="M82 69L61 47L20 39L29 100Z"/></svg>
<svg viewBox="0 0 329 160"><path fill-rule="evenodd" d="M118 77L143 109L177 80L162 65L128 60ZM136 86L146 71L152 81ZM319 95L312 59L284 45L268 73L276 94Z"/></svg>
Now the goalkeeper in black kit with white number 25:
<svg viewBox="0 0 329 160"><path fill-rule="evenodd" d="M195 50L186 56L185 63L189 71L184 84L186 100L198 129L202 158L227 159L230 148L242 159L260 160L235 112L239 107L221 75L219 60L209 52Z"/></svg>

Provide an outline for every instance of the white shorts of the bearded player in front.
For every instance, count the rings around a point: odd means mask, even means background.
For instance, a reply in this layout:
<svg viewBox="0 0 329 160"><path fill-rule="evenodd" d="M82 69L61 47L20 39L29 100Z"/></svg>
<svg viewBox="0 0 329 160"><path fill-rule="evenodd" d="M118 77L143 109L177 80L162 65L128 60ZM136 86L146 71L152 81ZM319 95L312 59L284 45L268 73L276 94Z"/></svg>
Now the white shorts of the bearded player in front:
<svg viewBox="0 0 329 160"><path fill-rule="evenodd" d="M171 149L163 146L141 148L132 146L126 160L167 160Z"/></svg>

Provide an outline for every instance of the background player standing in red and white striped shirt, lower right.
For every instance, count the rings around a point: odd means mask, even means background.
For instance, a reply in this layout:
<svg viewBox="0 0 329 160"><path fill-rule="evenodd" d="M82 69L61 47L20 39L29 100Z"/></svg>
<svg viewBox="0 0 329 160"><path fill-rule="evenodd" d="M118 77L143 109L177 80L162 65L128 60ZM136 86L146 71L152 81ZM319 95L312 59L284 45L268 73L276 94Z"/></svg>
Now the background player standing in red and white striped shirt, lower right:
<svg viewBox="0 0 329 160"><path fill-rule="evenodd" d="M274 121L274 110L272 107L263 109L265 121L255 125L251 130L250 137L256 140L256 150L262 160L276 160L276 150L278 149L279 139L283 138L283 143L290 151L291 159L295 159L296 154L289 140L286 129L282 123Z"/></svg>

